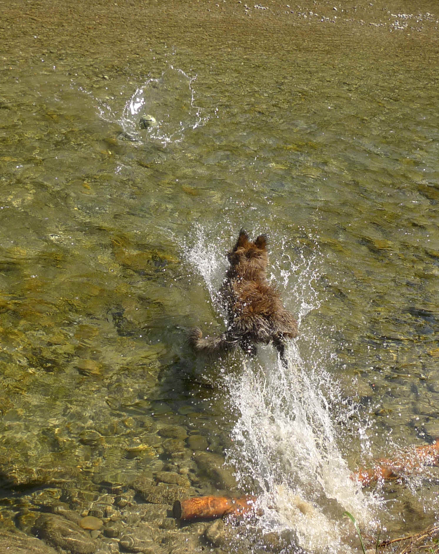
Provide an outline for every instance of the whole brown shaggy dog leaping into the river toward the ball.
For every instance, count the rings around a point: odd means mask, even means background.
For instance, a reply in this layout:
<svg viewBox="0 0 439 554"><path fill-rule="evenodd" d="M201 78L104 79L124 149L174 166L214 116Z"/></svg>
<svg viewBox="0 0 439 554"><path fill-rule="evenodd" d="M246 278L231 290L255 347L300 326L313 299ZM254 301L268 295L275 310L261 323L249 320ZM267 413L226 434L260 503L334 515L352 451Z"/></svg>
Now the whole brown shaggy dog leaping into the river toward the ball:
<svg viewBox="0 0 439 554"><path fill-rule="evenodd" d="M228 313L228 329L222 335L203 337L200 329L193 329L190 345L198 351L215 352L241 346L251 355L256 354L254 342L277 348L286 366L285 337L297 336L297 321L283 307L277 289L266 278L268 264L267 237L251 242L241 229L238 241L227 254L230 268L219 290L219 297Z"/></svg>

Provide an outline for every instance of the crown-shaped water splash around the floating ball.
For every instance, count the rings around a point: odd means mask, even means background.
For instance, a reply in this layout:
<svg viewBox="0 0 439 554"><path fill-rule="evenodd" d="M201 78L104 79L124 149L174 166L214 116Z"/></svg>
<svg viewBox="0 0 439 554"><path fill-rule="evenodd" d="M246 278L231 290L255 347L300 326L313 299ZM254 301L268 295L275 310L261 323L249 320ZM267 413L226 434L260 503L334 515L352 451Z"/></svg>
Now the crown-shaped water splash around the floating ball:
<svg viewBox="0 0 439 554"><path fill-rule="evenodd" d="M94 99L99 117L119 124L123 136L140 145L151 140L162 146L181 142L187 131L197 129L208 120L208 115L195 103L196 79L197 75L187 75L169 65L160 78L147 79L138 86L122 108L117 98L114 101ZM139 120L146 114L154 116L159 125L141 129Z"/></svg>

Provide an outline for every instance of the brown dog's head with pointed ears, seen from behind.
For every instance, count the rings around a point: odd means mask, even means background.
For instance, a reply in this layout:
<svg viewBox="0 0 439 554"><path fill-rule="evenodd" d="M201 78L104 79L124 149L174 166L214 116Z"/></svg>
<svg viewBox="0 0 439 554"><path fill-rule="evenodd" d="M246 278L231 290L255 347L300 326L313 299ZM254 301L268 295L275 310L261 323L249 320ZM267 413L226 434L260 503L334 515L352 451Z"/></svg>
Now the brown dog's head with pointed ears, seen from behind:
<svg viewBox="0 0 439 554"><path fill-rule="evenodd" d="M268 264L267 235L259 235L254 242L251 242L247 232L241 229L237 243L227 254L227 259L241 277L247 279L264 277Z"/></svg>

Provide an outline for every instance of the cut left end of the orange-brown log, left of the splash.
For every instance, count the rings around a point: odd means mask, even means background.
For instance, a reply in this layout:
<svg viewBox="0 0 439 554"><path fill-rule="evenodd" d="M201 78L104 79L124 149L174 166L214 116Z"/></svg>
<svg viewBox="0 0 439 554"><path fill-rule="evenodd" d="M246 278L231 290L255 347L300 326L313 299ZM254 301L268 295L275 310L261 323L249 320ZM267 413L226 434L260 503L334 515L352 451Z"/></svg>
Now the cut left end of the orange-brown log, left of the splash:
<svg viewBox="0 0 439 554"><path fill-rule="evenodd" d="M213 519L223 515L243 515L254 510L254 496L227 498L226 496L198 496L176 500L172 513L176 519L191 520L196 517Z"/></svg>

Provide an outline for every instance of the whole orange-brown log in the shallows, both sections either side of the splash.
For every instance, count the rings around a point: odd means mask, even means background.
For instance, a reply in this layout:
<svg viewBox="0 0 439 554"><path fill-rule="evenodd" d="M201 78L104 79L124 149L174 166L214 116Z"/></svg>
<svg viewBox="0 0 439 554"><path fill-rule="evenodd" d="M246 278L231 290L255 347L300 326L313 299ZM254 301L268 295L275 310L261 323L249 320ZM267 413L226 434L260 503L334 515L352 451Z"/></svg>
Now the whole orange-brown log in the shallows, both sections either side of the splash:
<svg viewBox="0 0 439 554"><path fill-rule="evenodd" d="M378 480L396 479L407 471L421 469L425 465L439 465L439 438L433 444L417 447L412 452L402 454L397 460L381 458L369 469L360 468L351 475L362 486ZM176 500L173 505L173 516L180 520L196 518L213 519L224 515L245 515L255 511L256 497L243 496L198 496L187 500Z"/></svg>

